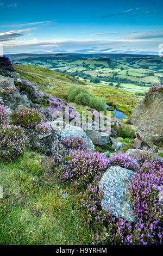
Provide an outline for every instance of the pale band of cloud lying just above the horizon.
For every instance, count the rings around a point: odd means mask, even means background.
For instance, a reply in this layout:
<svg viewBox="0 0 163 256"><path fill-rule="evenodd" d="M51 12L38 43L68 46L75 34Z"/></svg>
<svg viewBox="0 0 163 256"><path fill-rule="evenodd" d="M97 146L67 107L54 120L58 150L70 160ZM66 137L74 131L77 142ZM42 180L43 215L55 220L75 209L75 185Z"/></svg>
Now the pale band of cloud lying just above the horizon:
<svg viewBox="0 0 163 256"><path fill-rule="evenodd" d="M158 54L161 42L149 40L51 40L51 41L22 41L7 42L5 53L31 52L94 52L94 53L143 53ZM64 49L64 51L62 50ZM123 49L123 50L122 50Z"/></svg>

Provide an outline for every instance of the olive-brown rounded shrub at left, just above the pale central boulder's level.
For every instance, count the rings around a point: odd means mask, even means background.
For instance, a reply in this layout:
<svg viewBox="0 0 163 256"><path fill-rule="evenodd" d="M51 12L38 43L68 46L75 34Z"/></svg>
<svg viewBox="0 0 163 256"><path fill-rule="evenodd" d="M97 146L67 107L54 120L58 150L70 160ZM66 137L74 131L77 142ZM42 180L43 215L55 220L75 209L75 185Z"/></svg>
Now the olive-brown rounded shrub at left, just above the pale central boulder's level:
<svg viewBox="0 0 163 256"><path fill-rule="evenodd" d="M41 123L40 113L35 108L23 108L12 113L12 121L27 129L35 129Z"/></svg>

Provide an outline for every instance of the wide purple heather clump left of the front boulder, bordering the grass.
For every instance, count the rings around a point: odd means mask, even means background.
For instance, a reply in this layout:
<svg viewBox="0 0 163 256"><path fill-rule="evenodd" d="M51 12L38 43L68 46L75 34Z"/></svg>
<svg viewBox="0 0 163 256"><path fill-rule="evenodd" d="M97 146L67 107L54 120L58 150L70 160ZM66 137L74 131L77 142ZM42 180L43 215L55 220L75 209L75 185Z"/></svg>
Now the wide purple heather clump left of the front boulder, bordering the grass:
<svg viewBox="0 0 163 256"><path fill-rule="evenodd" d="M60 166L54 168L54 173L60 183L70 182L74 187L84 188L106 169L107 164L108 160L98 152L70 151Z"/></svg>

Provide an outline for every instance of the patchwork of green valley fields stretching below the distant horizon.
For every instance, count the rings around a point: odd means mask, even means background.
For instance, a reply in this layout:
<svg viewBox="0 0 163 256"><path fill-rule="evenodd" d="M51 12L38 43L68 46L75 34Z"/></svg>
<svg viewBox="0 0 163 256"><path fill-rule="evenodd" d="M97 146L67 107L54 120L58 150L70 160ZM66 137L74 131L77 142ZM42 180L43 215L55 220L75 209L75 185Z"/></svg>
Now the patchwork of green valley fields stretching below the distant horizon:
<svg viewBox="0 0 163 256"><path fill-rule="evenodd" d="M112 82L114 86L116 83L121 83L122 88L132 92L144 92L149 86L160 84L163 81L163 62L162 58L157 56L20 54L9 57L14 63L51 69L82 78L87 82L91 77L98 77L101 85L104 81ZM147 88L144 88L145 86Z"/></svg>

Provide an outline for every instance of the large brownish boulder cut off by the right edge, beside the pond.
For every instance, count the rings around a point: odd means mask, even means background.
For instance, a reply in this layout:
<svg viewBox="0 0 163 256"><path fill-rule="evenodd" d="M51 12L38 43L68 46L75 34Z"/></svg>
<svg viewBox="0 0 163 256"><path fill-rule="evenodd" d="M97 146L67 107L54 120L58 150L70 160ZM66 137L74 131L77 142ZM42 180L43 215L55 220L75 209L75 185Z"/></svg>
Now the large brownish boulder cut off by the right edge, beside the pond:
<svg viewBox="0 0 163 256"><path fill-rule="evenodd" d="M149 90L137 104L128 122L134 125L149 147L163 145L163 87Z"/></svg>

